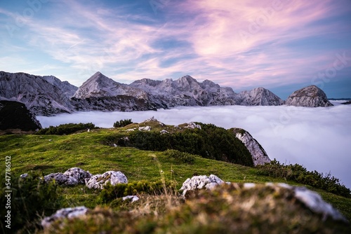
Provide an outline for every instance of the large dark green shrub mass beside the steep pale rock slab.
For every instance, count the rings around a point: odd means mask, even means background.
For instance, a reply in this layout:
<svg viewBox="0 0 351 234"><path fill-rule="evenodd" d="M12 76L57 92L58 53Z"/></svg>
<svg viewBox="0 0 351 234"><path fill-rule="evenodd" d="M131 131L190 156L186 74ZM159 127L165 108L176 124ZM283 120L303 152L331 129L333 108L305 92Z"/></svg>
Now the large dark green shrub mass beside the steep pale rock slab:
<svg viewBox="0 0 351 234"><path fill-rule="evenodd" d="M251 153L232 131L212 124L197 124L201 125L201 129L186 129L172 134L133 131L129 133L128 138L117 137L114 139L115 142L111 142L111 136L108 136L102 142L109 142L107 145L131 146L147 151L174 149L203 158L253 166Z"/></svg>

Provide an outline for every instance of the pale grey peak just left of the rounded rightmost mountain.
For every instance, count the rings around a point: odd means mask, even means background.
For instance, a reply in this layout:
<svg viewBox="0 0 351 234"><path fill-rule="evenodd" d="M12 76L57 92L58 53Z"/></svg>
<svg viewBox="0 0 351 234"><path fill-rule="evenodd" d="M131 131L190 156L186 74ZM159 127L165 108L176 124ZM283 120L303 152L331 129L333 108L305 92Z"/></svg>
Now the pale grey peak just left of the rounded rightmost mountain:
<svg viewBox="0 0 351 234"><path fill-rule="evenodd" d="M239 92L238 96L242 106L279 106L284 104L280 97L265 88Z"/></svg>

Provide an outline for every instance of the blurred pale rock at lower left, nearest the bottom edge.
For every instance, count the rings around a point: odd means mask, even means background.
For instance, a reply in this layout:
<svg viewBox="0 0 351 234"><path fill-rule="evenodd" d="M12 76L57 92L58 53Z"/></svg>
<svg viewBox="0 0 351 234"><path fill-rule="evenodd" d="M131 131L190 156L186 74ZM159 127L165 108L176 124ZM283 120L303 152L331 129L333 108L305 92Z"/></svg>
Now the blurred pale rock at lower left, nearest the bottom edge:
<svg viewBox="0 0 351 234"><path fill-rule="evenodd" d="M51 223L55 222L58 219L74 219L78 216L83 216L88 212L86 207L69 207L64 209L59 209L55 214L45 217L41 221L41 226L48 228L51 226Z"/></svg>

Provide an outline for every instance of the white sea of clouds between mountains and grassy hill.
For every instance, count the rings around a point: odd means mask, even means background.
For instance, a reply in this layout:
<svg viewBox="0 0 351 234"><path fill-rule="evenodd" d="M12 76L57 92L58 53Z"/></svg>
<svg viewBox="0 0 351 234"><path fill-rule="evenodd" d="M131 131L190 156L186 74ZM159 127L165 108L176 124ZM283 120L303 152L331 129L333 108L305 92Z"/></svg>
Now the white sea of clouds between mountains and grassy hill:
<svg viewBox="0 0 351 234"><path fill-rule="evenodd" d="M271 159L298 163L307 170L331 175L351 188L351 105L333 102L331 107L207 106L176 107L159 111L76 112L37 116L41 125L94 123L112 128L114 122L131 118L143 122L154 116L162 123L178 125L197 121L223 128L244 128L258 140Z"/></svg>

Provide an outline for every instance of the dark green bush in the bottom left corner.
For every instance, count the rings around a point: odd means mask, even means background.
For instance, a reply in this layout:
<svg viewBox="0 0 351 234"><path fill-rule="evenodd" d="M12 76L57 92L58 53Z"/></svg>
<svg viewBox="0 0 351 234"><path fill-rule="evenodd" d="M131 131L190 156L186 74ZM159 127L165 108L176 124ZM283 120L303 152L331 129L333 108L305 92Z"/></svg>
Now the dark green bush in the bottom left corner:
<svg viewBox="0 0 351 234"><path fill-rule="evenodd" d="M5 178L1 179L5 184ZM2 188L0 203L5 205L8 190L11 190L11 229L6 228L7 223L1 221L2 233L15 233L23 231L33 233L41 228L39 221L42 216L49 216L60 209L61 197L56 193L57 184L45 183L40 174L29 174L26 178L11 176L11 189ZM1 208L1 217L4 218L7 209Z"/></svg>

